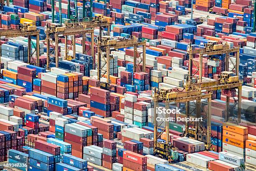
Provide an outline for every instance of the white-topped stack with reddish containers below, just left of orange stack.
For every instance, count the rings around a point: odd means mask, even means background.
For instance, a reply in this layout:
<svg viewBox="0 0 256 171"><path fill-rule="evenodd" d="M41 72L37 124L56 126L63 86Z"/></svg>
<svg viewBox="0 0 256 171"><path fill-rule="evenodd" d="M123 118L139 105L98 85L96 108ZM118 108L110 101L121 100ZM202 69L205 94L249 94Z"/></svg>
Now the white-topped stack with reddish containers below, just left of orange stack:
<svg viewBox="0 0 256 171"><path fill-rule="evenodd" d="M50 73L41 73L39 77L41 82L41 94L56 96L56 79L57 76Z"/></svg>

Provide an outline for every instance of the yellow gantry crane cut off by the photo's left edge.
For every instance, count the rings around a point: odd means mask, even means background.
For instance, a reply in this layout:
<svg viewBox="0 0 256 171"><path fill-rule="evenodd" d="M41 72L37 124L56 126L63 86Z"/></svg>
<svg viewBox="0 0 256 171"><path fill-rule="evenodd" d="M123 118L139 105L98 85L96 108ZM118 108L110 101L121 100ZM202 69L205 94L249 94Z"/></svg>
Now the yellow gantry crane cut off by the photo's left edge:
<svg viewBox="0 0 256 171"><path fill-rule="evenodd" d="M12 38L12 37L27 37L28 38L28 63L31 63L31 59L33 54L36 52L36 66L39 66L39 30L36 29L36 26L32 26L31 23L24 23L20 25L18 29L15 30L4 30L0 31L0 38ZM35 47L35 51L31 52L31 36L36 36L36 45L33 44ZM33 43L33 42L32 42ZM0 56L1 56L1 49L0 49ZM1 61L1 59L0 59Z"/></svg>

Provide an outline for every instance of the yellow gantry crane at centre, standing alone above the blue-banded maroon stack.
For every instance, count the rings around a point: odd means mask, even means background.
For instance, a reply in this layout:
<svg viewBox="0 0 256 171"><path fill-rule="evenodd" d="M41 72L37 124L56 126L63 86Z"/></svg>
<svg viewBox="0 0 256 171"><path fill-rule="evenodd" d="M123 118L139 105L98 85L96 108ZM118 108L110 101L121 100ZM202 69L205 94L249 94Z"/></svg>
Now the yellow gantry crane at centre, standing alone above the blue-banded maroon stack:
<svg viewBox="0 0 256 171"><path fill-rule="evenodd" d="M143 46L143 57L141 61L137 63L137 47ZM129 36L129 38L125 38L122 36L110 37L110 36L99 36L97 40L97 48L98 48L98 55L97 55L97 76L98 80L103 77L105 74L107 75L107 82L106 86L110 84L110 58L113 57L110 55L110 50L115 50L119 48L128 48L133 47L133 72L136 72L136 68L139 64L143 64L143 72L146 70L146 41L138 42L138 39L135 36ZM102 74L103 67L101 65L101 56L104 55L103 59L105 60L106 71ZM104 87L104 86L103 86Z"/></svg>

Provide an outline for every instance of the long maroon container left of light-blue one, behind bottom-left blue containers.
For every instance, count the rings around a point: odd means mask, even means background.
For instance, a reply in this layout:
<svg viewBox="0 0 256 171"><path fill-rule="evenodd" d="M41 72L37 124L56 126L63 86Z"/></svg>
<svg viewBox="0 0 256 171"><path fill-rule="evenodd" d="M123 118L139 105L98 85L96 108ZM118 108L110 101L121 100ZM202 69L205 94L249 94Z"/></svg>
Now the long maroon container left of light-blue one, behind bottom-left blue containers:
<svg viewBox="0 0 256 171"><path fill-rule="evenodd" d="M41 140L35 141L35 149L45 151L46 153L50 153L53 155L60 155L60 146L53 145L51 143L46 143Z"/></svg>

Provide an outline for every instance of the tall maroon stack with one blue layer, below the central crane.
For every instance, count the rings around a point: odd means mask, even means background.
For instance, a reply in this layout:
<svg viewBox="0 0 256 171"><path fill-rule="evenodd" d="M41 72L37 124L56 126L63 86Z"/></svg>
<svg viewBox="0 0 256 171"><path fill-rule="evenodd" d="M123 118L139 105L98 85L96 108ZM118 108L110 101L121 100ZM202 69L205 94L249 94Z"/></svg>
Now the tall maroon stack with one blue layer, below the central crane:
<svg viewBox="0 0 256 171"><path fill-rule="evenodd" d="M97 115L110 117L110 91L91 87L90 108Z"/></svg>

